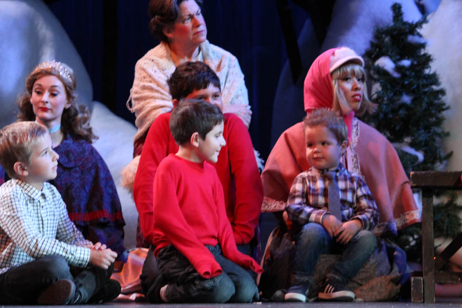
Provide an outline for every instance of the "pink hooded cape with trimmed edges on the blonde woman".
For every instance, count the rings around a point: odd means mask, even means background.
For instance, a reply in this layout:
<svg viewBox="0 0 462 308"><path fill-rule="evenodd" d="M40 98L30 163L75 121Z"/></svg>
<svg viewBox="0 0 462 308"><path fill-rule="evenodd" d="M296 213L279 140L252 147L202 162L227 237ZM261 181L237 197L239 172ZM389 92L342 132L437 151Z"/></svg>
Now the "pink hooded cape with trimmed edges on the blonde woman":
<svg viewBox="0 0 462 308"><path fill-rule="evenodd" d="M329 64L334 50L318 56L306 75L304 103L307 112L322 107L332 108ZM375 234L396 234L397 229L420 221L409 179L394 147L376 129L355 119L353 112L345 115L344 119L349 128L354 158L354 164L347 165L347 168L359 171L364 177L380 211ZM305 157L304 143L302 122L288 128L279 137L261 175L262 211L283 210L293 180L311 167Z"/></svg>

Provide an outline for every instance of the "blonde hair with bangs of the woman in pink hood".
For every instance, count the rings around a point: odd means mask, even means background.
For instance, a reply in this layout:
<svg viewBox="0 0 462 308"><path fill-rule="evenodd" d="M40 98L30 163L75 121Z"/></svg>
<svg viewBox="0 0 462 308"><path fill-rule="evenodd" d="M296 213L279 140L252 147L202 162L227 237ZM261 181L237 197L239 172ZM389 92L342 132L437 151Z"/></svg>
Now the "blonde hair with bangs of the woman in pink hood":
<svg viewBox="0 0 462 308"><path fill-rule="evenodd" d="M345 94L339 87L339 81L346 76L362 78L364 80L364 93L362 95L361 106L355 114L361 115L364 114L365 111L373 113L377 109L377 104L374 104L369 100L368 88L365 85L367 75L360 65L353 62L347 62L331 73L332 88L334 89L334 101L332 103L332 108L338 111L341 110L340 106L344 106L347 109L349 108L347 98L345 98Z"/></svg>

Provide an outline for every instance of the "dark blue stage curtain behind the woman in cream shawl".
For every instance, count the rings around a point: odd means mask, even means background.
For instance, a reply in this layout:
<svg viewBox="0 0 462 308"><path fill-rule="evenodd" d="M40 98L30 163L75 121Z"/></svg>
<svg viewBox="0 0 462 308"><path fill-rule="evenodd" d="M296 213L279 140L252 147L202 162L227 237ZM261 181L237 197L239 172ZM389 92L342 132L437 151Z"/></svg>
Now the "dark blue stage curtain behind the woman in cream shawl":
<svg viewBox="0 0 462 308"><path fill-rule="evenodd" d="M233 53L245 75L254 147L266 160L273 101L287 60L280 19L273 0L205 0L202 11L210 43ZM93 100L134 123L126 108L134 66L159 42L148 29L149 0L60 0L47 5L60 20L90 75ZM309 14L293 4L296 33Z"/></svg>

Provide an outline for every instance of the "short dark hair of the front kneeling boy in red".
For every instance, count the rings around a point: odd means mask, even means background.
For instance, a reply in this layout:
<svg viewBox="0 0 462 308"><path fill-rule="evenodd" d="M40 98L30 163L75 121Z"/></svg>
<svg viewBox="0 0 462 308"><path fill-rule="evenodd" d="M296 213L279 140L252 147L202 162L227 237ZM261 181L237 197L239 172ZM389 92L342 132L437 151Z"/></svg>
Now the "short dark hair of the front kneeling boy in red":
<svg viewBox="0 0 462 308"><path fill-rule="evenodd" d="M189 142L196 131L202 139L215 125L223 122L223 113L202 100L182 100L170 115L170 131L175 141L182 145Z"/></svg>

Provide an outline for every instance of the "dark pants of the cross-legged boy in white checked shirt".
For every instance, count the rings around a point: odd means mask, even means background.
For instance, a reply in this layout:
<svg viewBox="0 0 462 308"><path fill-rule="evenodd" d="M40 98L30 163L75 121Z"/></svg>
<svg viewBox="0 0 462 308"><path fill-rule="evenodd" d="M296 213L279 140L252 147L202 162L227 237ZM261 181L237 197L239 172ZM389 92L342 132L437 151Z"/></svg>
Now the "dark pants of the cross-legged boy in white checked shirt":
<svg viewBox="0 0 462 308"><path fill-rule="evenodd" d="M60 279L70 279L82 294L82 303L98 292L112 274L99 267L69 267L61 256L46 256L0 274L0 303L36 304L37 297Z"/></svg>

